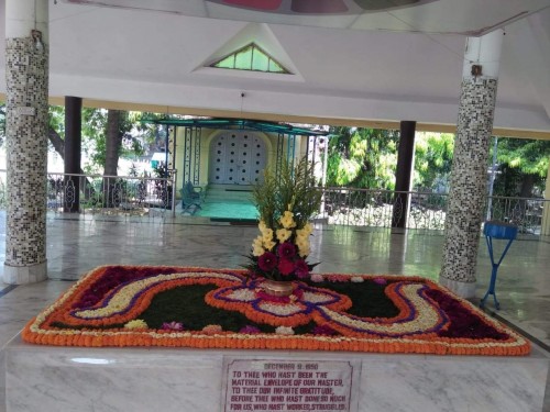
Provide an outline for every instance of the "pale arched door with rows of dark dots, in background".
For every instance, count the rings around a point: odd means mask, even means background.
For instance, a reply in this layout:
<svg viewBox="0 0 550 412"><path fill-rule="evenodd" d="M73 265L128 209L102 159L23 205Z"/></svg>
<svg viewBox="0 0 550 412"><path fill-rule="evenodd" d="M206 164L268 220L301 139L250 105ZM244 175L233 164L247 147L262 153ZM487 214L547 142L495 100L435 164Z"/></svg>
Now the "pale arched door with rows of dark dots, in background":
<svg viewBox="0 0 550 412"><path fill-rule="evenodd" d="M209 182L253 185L267 164L264 141L254 132L227 131L210 143Z"/></svg>

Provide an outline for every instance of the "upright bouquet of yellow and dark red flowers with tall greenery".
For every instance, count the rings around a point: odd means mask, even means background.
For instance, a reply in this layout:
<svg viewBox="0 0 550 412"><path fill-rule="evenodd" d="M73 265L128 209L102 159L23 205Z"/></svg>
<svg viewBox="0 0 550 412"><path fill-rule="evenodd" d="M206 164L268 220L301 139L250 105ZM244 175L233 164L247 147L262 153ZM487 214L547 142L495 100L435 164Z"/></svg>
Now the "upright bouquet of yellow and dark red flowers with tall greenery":
<svg viewBox="0 0 550 412"><path fill-rule="evenodd" d="M271 280L306 279L316 266L307 263L309 220L319 211L322 192L316 185L314 165L302 158L295 167L284 163L278 176L264 171L253 190L260 212L260 235L252 243L252 277Z"/></svg>

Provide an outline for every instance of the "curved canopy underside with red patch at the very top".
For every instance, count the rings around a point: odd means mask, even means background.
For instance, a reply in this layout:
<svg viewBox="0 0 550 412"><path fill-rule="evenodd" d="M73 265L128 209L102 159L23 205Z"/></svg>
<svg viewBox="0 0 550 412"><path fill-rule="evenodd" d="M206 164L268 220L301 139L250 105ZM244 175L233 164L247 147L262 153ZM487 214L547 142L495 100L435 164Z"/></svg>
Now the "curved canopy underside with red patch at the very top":
<svg viewBox="0 0 550 412"><path fill-rule="evenodd" d="M127 10L272 24L482 35L548 0L62 0Z"/></svg>

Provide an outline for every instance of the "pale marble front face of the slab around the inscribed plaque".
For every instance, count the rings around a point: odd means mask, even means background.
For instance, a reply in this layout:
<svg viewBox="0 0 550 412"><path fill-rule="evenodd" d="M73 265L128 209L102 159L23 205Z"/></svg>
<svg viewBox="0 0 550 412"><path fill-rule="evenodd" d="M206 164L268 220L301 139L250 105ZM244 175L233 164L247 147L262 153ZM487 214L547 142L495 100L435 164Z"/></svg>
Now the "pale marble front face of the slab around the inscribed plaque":
<svg viewBox="0 0 550 412"><path fill-rule="evenodd" d="M226 411L228 359L358 365L351 412L542 411L549 360L187 348L6 347L7 411Z"/></svg>

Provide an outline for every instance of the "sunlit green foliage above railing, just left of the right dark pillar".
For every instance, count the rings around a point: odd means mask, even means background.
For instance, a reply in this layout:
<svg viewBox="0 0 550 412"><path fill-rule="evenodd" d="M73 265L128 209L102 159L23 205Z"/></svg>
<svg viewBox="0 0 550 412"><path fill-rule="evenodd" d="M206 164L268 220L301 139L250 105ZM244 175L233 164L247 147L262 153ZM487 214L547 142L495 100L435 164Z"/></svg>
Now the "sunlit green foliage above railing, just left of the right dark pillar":
<svg viewBox="0 0 550 412"><path fill-rule="evenodd" d="M394 188L398 132L333 127L331 134L328 186Z"/></svg>

